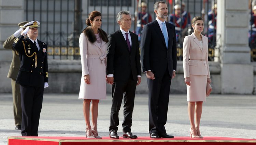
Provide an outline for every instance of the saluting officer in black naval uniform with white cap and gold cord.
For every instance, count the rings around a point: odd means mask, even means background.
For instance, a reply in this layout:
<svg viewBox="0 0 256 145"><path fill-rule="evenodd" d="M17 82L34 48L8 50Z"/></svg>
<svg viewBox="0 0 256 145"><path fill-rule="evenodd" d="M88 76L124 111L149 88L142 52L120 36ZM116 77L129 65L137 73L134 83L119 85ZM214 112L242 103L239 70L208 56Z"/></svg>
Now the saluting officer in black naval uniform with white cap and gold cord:
<svg viewBox="0 0 256 145"><path fill-rule="evenodd" d="M24 25L26 29L13 43L20 58L16 83L20 85L22 136L38 136L44 88L48 87L47 45L37 40L39 25L39 21Z"/></svg>

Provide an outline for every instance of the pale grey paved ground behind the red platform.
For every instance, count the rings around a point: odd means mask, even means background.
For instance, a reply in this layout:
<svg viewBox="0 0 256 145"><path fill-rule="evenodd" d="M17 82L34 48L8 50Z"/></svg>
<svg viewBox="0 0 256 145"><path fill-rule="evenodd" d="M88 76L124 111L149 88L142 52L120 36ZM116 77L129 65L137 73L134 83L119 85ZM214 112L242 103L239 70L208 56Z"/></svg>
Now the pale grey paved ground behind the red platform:
<svg viewBox="0 0 256 145"><path fill-rule="evenodd" d="M84 136L85 121L82 100L78 94L45 94L39 124L39 136ZM133 111L133 134L148 136L148 99L146 94L137 94ZM211 95L203 106L201 134L203 136L242 137L256 139L256 96ZM111 96L100 101L98 131L108 136ZM20 136L14 130L11 94L0 94L0 145L7 144L8 136ZM122 124L122 107L119 112ZM118 134L121 136L122 126ZM170 95L168 134L189 136L186 95Z"/></svg>

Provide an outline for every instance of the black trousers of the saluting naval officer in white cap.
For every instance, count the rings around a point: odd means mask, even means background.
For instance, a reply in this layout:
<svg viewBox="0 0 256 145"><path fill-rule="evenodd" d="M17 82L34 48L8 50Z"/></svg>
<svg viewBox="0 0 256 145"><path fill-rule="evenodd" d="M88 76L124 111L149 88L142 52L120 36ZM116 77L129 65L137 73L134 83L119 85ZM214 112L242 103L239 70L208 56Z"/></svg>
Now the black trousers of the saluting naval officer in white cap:
<svg viewBox="0 0 256 145"><path fill-rule="evenodd" d="M20 85L22 104L22 136L38 136L38 125L43 103L43 87Z"/></svg>

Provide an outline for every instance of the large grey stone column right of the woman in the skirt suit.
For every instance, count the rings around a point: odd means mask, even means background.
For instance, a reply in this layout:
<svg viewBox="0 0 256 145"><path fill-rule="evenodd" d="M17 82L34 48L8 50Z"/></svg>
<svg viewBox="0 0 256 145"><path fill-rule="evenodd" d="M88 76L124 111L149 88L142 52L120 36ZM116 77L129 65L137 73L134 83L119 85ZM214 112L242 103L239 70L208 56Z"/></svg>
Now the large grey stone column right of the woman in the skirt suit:
<svg viewBox="0 0 256 145"><path fill-rule="evenodd" d="M248 47L248 1L217 0L221 93L252 94L253 65ZM214 81L214 80L213 80Z"/></svg>

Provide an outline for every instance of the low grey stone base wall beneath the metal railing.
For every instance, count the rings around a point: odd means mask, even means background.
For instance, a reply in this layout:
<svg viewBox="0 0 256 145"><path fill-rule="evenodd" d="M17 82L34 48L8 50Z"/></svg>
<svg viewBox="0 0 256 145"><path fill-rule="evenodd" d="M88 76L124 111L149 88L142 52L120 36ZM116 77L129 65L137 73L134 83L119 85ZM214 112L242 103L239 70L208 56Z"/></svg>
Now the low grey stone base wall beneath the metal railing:
<svg viewBox="0 0 256 145"><path fill-rule="evenodd" d="M11 52L10 52L11 53ZM0 62L0 93L12 91L11 79L7 78L10 61ZM212 93L220 93L221 68L217 62L209 63L212 78ZM79 93L81 83L81 61L80 60L48 60L49 87L45 89L48 93ZM107 84L107 92L111 93L111 85ZM147 93L145 74L142 74L142 83L137 86L137 93ZM183 77L182 61L177 62L176 77L172 79L171 93L186 93L186 85Z"/></svg>

